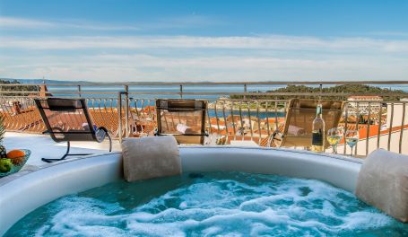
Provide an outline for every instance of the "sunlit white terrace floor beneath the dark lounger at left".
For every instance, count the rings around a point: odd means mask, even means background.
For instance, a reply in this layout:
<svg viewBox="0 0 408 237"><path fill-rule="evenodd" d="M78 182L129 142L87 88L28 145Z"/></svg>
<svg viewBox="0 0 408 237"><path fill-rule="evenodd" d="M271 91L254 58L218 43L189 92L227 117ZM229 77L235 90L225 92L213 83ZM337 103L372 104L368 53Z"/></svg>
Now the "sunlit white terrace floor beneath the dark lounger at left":
<svg viewBox="0 0 408 237"><path fill-rule="evenodd" d="M120 145L117 140L113 140L112 144L113 151L120 151ZM41 158L60 158L66 151L65 143L57 144L49 136L13 132L5 133L4 146L7 151L11 151L13 149L29 149L31 151L31 155L27 162L28 165L26 165L28 167L29 165L37 167L46 165L48 162L42 162ZM109 141L106 139L101 144L96 142L72 142L70 153L102 154L108 151Z"/></svg>

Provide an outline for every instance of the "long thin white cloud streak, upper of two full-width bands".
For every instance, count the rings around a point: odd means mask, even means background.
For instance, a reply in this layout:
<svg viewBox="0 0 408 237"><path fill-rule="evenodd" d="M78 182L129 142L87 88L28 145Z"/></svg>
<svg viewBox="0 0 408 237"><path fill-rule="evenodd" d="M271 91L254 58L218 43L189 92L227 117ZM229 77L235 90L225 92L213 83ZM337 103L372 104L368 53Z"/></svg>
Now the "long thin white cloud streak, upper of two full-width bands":
<svg viewBox="0 0 408 237"><path fill-rule="evenodd" d="M237 48L274 50L356 50L408 52L408 40L378 40L371 38L333 38L262 36L262 37L195 37L195 36L140 36L140 37L45 37L0 38L0 48L22 49L140 49L140 48Z"/></svg>

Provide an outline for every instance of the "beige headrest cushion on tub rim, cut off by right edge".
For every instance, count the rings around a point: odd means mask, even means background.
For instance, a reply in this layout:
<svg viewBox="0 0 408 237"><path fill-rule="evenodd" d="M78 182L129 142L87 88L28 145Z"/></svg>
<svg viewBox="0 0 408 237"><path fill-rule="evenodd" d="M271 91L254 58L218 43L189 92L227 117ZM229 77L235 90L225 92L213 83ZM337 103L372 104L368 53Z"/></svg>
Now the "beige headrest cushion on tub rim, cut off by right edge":
<svg viewBox="0 0 408 237"><path fill-rule="evenodd" d="M408 156L378 149L359 173L356 196L402 222L408 222Z"/></svg>

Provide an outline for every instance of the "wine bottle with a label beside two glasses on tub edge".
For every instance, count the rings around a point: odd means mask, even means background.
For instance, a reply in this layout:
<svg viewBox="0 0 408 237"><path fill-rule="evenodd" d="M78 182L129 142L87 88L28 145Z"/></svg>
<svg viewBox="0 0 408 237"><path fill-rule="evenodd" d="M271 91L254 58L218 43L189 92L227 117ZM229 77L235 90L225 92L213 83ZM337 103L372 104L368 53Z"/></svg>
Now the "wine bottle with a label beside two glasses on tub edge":
<svg viewBox="0 0 408 237"><path fill-rule="evenodd" d="M325 151L325 120L322 118L322 105L317 104L316 118L312 127L312 147L311 150L317 153Z"/></svg>

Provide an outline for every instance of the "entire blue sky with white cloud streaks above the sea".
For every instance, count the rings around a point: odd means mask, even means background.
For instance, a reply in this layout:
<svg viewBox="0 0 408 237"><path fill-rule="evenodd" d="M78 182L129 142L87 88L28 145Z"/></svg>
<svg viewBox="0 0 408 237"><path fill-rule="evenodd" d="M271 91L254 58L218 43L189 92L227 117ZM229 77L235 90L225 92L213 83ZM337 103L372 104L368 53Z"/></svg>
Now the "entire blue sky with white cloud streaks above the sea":
<svg viewBox="0 0 408 237"><path fill-rule="evenodd" d="M0 0L0 78L408 80L408 0Z"/></svg>

